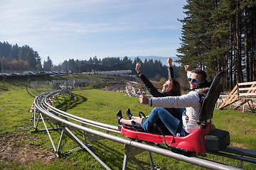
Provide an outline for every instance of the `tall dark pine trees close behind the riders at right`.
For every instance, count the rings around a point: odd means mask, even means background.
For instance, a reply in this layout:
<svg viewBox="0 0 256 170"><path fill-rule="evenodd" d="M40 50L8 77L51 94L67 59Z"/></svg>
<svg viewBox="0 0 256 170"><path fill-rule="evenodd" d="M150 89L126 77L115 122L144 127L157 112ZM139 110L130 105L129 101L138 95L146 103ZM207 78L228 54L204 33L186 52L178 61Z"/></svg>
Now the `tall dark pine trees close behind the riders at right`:
<svg viewBox="0 0 256 170"><path fill-rule="evenodd" d="M179 62L210 77L225 70L228 88L255 81L256 1L187 0L183 8Z"/></svg>

